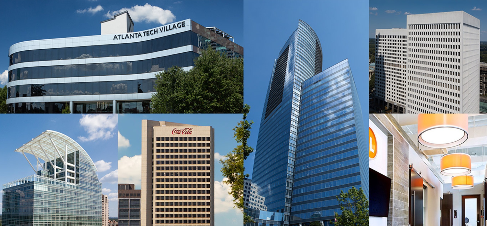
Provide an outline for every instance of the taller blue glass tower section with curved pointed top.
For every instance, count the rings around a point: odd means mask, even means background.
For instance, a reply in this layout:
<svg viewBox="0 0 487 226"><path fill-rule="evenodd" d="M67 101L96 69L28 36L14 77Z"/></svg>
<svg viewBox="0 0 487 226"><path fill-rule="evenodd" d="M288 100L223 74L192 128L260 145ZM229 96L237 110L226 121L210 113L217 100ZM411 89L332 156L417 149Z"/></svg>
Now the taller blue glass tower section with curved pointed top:
<svg viewBox="0 0 487 226"><path fill-rule="evenodd" d="M301 85L321 72L318 36L304 21L286 41L274 63L262 111L252 186L265 198L267 215L279 213L289 225L298 138ZM272 156L269 158L269 156Z"/></svg>

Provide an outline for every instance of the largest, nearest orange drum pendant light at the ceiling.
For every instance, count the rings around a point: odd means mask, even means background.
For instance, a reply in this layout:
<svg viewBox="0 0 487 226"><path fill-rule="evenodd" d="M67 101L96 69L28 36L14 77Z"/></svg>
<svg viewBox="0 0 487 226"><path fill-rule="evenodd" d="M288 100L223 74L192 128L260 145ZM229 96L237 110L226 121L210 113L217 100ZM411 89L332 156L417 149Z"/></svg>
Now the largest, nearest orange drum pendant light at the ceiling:
<svg viewBox="0 0 487 226"><path fill-rule="evenodd" d="M451 148L468 138L468 114L418 114L418 141L429 148Z"/></svg>

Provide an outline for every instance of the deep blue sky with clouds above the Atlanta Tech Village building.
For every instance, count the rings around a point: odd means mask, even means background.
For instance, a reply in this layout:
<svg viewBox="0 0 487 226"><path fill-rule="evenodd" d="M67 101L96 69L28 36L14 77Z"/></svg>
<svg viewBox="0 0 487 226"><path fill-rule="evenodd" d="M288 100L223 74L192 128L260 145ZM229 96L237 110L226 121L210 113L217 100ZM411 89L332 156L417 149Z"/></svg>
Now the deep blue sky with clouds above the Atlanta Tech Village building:
<svg viewBox="0 0 487 226"><path fill-rule="evenodd" d="M136 5L139 6L134 7ZM11 45L27 40L100 35L100 21L112 18L106 15L113 15L123 8L131 12L134 31L162 26L160 21L170 23L192 19L206 27L216 26L233 36L237 44L244 39L242 1L1 0L1 27L6 34L0 37L0 74L8 69Z"/></svg>

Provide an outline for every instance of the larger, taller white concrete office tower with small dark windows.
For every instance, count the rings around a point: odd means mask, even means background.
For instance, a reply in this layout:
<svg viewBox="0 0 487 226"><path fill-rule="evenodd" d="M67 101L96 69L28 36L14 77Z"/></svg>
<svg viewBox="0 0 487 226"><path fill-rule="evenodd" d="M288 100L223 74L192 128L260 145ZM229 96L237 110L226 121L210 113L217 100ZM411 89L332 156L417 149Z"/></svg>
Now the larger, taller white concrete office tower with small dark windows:
<svg viewBox="0 0 487 226"><path fill-rule="evenodd" d="M408 15L408 113L479 113L480 20Z"/></svg>

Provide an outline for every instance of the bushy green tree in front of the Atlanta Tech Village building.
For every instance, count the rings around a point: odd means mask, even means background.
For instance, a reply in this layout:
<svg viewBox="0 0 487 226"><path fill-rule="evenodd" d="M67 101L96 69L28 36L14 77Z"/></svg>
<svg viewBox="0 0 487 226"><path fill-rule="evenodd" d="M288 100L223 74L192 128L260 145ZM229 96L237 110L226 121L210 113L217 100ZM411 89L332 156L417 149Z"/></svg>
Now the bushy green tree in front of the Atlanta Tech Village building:
<svg viewBox="0 0 487 226"><path fill-rule="evenodd" d="M242 113L244 59L206 49L194 64L156 74L152 113Z"/></svg>

